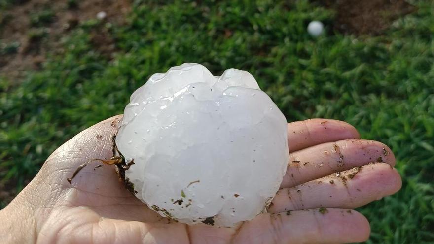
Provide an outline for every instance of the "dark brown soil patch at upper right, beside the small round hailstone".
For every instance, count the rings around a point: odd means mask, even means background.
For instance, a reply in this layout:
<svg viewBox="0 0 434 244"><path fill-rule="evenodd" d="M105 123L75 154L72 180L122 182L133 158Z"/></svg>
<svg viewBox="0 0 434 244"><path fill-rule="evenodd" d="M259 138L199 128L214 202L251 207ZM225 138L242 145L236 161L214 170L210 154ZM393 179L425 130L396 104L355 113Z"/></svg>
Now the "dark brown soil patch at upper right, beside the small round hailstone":
<svg viewBox="0 0 434 244"><path fill-rule="evenodd" d="M380 35L394 20L415 10L405 0L318 0L336 10L334 29L357 35Z"/></svg>

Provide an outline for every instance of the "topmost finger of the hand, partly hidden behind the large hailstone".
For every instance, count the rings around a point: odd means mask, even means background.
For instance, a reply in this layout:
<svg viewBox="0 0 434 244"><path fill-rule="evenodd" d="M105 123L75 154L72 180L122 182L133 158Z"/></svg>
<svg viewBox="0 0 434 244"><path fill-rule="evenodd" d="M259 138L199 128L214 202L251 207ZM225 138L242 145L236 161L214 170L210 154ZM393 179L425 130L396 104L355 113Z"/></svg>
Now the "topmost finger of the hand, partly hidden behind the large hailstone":
<svg viewBox="0 0 434 244"><path fill-rule="evenodd" d="M308 119L288 124L289 152L343 139L359 139L352 125L333 119Z"/></svg>

